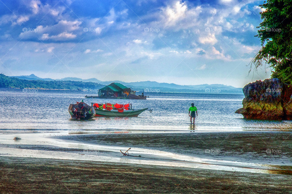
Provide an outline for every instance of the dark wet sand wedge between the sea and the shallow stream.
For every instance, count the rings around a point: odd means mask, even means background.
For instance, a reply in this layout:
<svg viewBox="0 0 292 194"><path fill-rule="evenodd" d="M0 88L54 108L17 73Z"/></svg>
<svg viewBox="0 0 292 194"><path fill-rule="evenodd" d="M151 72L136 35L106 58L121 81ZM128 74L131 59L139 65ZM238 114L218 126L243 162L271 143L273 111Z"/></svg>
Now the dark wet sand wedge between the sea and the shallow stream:
<svg viewBox="0 0 292 194"><path fill-rule="evenodd" d="M292 132L184 132L60 136L78 142L128 146L207 159L292 166Z"/></svg>

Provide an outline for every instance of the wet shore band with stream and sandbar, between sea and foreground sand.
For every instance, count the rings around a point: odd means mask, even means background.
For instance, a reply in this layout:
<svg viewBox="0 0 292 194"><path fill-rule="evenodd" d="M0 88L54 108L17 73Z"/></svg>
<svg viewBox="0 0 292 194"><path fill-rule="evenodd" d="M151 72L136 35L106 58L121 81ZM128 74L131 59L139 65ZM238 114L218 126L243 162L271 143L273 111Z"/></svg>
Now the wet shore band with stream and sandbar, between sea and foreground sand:
<svg viewBox="0 0 292 194"><path fill-rule="evenodd" d="M106 132L70 135L68 132L28 132L16 135L12 132L1 135L0 156L291 175L292 164L289 152L291 145L290 140L287 139L291 133L277 132L276 134L271 135L269 132L256 132L253 135L249 132L159 133L160 138L157 139L156 133ZM15 136L20 137L21 140L13 140ZM264 139L266 136L273 138ZM286 141L283 142L285 136L287 136ZM161 142L160 139L164 141ZM267 144L259 144L260 139ZM281 142L282 153L276 155L266 153L266 146L277 149L275 146ZM129 151L130 155L142 157L125 157L120 153L120 150L126 151L130 147L132 148Z"/></svg>

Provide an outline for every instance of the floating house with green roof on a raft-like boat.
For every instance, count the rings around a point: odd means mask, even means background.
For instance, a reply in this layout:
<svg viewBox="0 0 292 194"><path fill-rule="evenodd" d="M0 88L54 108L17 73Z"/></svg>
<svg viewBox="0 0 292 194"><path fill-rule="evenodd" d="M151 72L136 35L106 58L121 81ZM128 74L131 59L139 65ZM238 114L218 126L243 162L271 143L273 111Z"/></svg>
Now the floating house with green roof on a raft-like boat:
<svg viewBox="0 0 292 194"><path fill-rule="evenodd" d="M98 96L86 95L85 98L146 100L144 92L142 95L136 95L136 91L120 83L111 83L99 89Z"/></svg>

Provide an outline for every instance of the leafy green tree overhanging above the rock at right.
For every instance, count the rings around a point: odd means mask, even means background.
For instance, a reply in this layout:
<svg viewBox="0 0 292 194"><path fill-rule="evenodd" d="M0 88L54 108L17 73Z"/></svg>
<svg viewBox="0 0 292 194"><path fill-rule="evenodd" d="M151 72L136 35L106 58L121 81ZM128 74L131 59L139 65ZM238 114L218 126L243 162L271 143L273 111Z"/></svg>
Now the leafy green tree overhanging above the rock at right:
<svg viewBox="0 0 292 194"><path fill-rule="evenodd" d="M259 6L266 9L255 35L262 48L252 64L257 69L264 62L273 69L272 78L292 84L292 0L267 0Z"/></svg>

